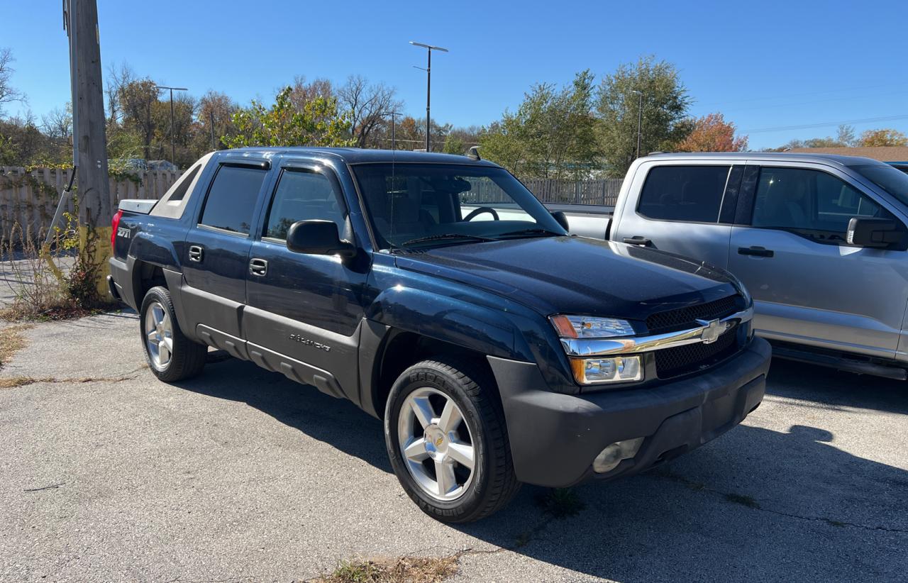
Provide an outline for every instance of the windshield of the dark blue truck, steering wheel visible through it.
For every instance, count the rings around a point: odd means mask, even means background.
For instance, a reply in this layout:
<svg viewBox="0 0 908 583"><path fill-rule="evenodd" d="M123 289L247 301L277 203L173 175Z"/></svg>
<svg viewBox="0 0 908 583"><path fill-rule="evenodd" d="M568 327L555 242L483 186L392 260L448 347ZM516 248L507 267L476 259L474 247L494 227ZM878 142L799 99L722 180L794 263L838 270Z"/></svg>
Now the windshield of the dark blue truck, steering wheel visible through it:
<svg viewBox="0 0 908 583"><path fill-rule="evenodd" d="M568 234L501 168L380 163L352 170L381 249Z"/></svg>

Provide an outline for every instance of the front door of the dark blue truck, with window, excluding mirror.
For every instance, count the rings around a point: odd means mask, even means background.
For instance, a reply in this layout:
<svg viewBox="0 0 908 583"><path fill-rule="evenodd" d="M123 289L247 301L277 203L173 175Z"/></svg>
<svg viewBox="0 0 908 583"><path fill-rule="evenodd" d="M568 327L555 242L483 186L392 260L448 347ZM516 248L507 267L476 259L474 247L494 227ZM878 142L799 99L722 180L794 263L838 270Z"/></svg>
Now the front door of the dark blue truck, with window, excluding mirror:
<svg viewBox="0 0 908 583"><path fill-rule="evenodd" d="M263 208L246 271L243 329L250 358L359 402L358 327L368 257L303 254L286 244L291 224L309 219L333 221L341 238L353 241L337 177L321 164L284 163Z"/></svg>

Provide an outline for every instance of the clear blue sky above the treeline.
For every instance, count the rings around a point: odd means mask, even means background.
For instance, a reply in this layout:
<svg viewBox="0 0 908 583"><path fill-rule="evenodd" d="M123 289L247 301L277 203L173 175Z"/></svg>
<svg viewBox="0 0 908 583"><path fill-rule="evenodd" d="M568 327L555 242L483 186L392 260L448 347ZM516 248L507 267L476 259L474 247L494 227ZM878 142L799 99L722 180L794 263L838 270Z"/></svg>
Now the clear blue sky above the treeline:
<svg viewBox="0 0 908 583"><path fill-rule="evenodd" d="M405 111L425 114L425 52L432 116L489 124L531 84L565 84L589 68L656 54L677 65L693 114L722 112L752 148L834 135L908 133L908 2L271 2L97 0L104 71L128 63L162 84L270 99L297 74L342 83L348 74L394 85ZM54 0L0 3L0 46L13 49L13 83L41 114L69 99L66 36ZM15 106L8 108L15 113ZM823 127L755 132L765 128Z"/></svg>

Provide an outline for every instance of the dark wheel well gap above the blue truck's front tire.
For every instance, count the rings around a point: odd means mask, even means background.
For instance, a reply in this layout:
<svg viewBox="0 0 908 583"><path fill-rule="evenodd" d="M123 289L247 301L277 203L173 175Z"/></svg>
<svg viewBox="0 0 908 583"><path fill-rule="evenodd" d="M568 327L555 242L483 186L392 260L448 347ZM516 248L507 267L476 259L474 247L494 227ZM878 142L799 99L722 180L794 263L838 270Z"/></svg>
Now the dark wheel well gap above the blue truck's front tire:
<svg viewBox="0 0 908 583"><path fill-rule="evenodd" d="M452 355L473 361L489 371L489 377L494 380L489 361L482 352L471 351L457 344L427 338L413 332L395 334L385 346L373 394L372 404L379 418L384 418L388 395L401 372L419 361Z"/></svg>

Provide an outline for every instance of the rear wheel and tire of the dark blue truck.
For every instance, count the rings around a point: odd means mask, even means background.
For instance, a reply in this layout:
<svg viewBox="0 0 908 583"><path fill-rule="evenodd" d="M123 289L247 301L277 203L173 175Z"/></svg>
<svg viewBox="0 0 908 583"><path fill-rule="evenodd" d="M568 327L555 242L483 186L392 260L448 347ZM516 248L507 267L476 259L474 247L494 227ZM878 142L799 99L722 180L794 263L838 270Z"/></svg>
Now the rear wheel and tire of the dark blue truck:
<svg viewBox="0 0 908 583"><path fill-rule="evenodd" d="M186 338L176 320L173 299L163 286L155 286L142 301L139 333L145 361L164 382L190 379L205 367L208 347Z"/></svg>

